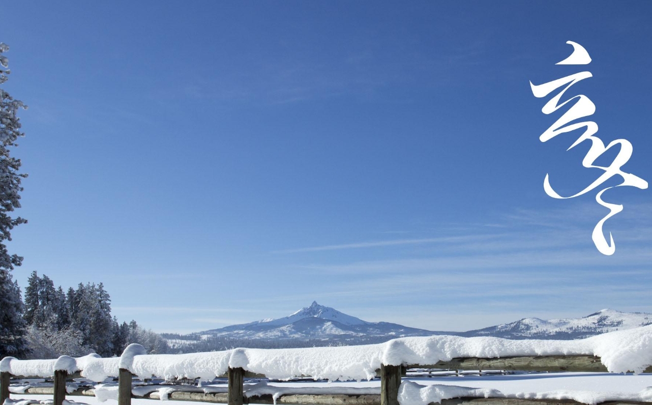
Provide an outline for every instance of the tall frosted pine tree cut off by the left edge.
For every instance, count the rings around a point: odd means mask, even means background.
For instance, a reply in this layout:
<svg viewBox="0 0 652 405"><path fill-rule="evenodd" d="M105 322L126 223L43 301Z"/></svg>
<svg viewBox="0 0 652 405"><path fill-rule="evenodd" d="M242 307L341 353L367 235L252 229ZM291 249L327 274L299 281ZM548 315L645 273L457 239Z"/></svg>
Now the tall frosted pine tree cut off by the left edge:
<svg viewBox="0 0 652 405"><path fill-rule="evenodd" d="M0 42L0 84L7 82L9 74L8 59L3 55L8 50L9 47ZM19 193L23 190L20 181L27 177L18 173L20 159L9 154L9 147L16 146L18 137L24 135L20 132L20 120L16 115L20 108L25 108L25 105L0 88L0 357L23 356L27 351L20 289L10 273L23 258L9 254L5 245L5 241L11 240L10 232L14 226L27 222L10 215L14 209L20 208Z"/></svg>

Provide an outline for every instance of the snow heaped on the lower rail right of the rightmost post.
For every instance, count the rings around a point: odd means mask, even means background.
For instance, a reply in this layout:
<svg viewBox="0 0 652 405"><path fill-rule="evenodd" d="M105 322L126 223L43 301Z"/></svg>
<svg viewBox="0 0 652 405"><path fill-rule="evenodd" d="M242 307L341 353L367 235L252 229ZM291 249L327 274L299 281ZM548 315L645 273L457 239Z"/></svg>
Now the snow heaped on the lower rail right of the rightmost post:
<svg viewBox="0 0 652 405"><path fill-rule="evenodd" d="M431 402L441 403L443 399L451 398L521 398L521 399L551 399L576 400L584 404L595 405L606 401L652 401L652 387L647 387L639 393L619 393L611 391L572 391L561 389L543 393L517 393L505 395L496 389L457 387L456 385L419 385L405 381L398 391L400 405L428 405Z"/></svg>

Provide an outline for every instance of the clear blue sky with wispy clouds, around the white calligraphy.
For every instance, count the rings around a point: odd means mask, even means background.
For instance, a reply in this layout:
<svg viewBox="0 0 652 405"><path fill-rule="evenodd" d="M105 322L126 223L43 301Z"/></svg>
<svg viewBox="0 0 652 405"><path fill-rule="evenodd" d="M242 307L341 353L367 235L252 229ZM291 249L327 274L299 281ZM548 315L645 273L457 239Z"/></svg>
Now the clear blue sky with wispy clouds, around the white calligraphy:
<svg viewBox="0 0 652 405"><path fill-rule="evenodd" d="M529 80L569 90L652 179L645 1L6 2L31 271L104 282L119 320L200 331L317 300L364 320L466 330L652 312L652 199L574 194L579 134ZM556 66L572 40L593 62ZM608 165L614 153L600 163ZM615 180L607 185L615 185Z"/></svg>

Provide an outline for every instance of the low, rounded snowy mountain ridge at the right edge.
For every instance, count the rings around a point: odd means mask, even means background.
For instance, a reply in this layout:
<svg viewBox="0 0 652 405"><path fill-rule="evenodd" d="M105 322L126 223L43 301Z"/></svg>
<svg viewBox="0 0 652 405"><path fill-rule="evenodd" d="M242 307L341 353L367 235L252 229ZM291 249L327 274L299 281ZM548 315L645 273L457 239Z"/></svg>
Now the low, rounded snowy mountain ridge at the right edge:
<svg viewBox="0 0 652 405"><path fill-rule="evenodd" d="M600 333L631 329L652 324L652 314L643 312L619 312L603 309L584 318L562 318L541 320L524 318L512 323L504 323L461 333L462 336L495 336L509 339L580 339Z"/></svg>

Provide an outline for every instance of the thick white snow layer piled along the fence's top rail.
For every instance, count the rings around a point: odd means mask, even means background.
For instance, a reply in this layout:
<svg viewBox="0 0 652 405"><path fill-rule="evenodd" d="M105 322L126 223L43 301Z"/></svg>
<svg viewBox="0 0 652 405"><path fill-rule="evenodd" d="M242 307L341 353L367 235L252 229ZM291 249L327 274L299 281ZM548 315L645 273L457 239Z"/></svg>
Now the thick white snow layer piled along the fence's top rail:
<svg viewBox="0 0 652 405"><path fill-rule="evenodd" d="M224 352L139 355L125 350L125 359L88 355L75 359L82 376L103 381L125 367L141 378L213 380L228 368L242 367L280 380L312 376L328 380L369 380L381 364L433 365L454 357L524 355L597 355L611 372L642 372L652 365L652 325L604 333L582 340L507 340L494 337L408 337L382 344L299 349L234 349ZM14 375L51 376L55 360L3 359L0 369ZM69 365L70 366L70 365ZM127 367L128 366L128 367Z"/></svg>

